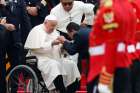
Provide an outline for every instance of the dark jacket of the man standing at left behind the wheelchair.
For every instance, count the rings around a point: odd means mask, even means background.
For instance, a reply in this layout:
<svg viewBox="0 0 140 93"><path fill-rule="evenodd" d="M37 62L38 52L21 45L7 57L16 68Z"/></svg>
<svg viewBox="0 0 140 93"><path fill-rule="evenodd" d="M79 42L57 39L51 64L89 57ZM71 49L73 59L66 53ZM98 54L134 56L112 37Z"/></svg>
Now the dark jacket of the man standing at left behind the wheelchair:
<svg viewBox="0 0 140 93"><path fill-rule="evenodd" d="M9 14L7 20L16 27L16 31L12 31L14 42L21 42L24 44L31 30L31 23L28 17L24 0L12 0L6 6Z"/></svg>

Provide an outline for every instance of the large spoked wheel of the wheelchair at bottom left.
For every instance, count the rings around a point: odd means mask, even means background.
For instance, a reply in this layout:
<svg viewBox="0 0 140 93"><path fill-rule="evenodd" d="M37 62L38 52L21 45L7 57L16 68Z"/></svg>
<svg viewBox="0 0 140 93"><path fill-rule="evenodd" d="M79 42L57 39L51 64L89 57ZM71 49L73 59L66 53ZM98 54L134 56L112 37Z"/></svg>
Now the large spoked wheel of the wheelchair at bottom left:
<svg viewBox="0 0 140 93"><path fill-rule="evenodd" d="M38 93L38 78L29 66L16 66L6 79L7 93Z"/></svg>

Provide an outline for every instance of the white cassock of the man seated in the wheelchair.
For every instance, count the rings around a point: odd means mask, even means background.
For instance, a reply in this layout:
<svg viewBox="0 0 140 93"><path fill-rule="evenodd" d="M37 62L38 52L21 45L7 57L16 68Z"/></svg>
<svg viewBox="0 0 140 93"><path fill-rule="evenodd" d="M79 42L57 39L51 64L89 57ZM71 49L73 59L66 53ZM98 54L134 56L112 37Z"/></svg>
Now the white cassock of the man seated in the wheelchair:
<svg viewBox="0 0 140 93"><path fill-rule="evenodd" d="M49 90L55 88L53 80L58 75L63 75L64 85L68 86L76 79L80 79L77 65L67 58L61 58L61 45L52 47L51 44L59 36L59 32L54 31L48 34L44 28L44 25L41 24L31 30L25 48L31 49L31 55L38 58L38 68Z"/></svg>

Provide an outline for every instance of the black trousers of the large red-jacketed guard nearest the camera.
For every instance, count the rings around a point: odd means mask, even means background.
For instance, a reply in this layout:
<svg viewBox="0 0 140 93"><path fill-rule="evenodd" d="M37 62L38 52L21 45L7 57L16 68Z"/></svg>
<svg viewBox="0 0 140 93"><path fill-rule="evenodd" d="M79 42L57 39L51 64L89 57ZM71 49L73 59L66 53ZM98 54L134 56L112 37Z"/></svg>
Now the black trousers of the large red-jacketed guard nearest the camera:
<svg viewBox="0 0 140 93"><path fill-rule="evenodd" d="M114 74L113 93L133 93L129 68L117 68Z"/></svg>

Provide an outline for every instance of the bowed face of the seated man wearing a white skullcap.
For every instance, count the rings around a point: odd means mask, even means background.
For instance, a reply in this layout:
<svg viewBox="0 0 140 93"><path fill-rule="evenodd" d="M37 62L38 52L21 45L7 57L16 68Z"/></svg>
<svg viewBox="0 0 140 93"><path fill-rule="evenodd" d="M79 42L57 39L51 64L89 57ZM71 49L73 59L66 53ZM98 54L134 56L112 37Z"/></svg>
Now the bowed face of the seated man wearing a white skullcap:
<svg viewBox="0 0 140 93"><path fill-rule="evenodd" d="M54 29L56 28L57 21L48 20L44 23L44 25L45 25L45 28L46 28L46 32L47 33L52 33L54 31Z"/></svg>

